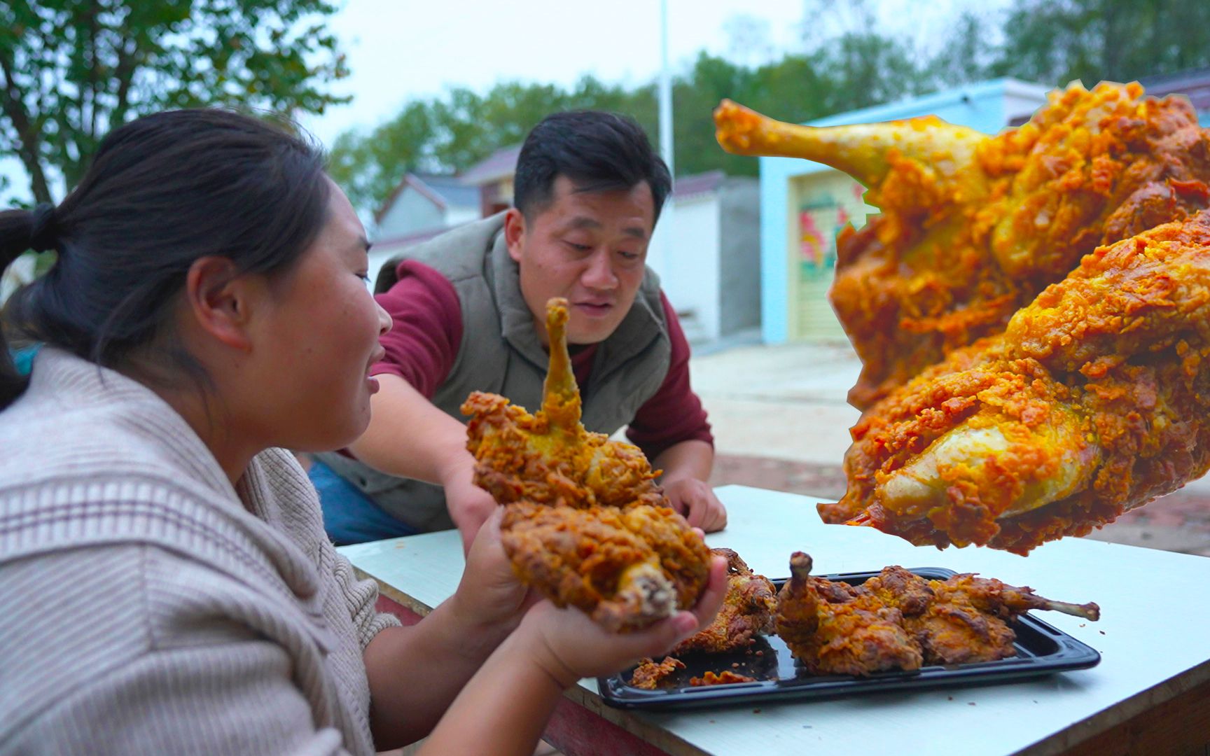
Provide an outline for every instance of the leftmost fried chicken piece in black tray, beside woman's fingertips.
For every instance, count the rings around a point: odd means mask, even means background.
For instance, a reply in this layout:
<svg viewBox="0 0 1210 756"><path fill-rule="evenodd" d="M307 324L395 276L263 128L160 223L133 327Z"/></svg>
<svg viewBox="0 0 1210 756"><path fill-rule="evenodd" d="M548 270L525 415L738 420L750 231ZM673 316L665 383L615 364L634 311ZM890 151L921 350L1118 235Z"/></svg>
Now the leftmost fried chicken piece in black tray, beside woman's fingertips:
<svg viewBox="0 0 1210 756"><path fill-rule="evenodd" d="M672 653L698 651L725 653L750 646L757 635L773 630L777 589L764 575L756 575L731 549L710 549L727 559L727 595L714 622L678 644Z"/></svg>

